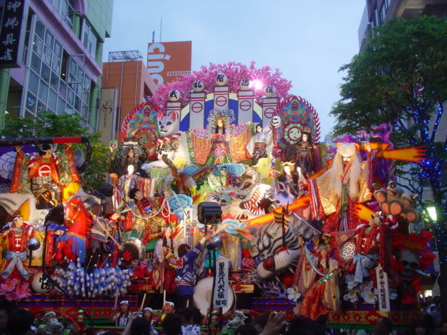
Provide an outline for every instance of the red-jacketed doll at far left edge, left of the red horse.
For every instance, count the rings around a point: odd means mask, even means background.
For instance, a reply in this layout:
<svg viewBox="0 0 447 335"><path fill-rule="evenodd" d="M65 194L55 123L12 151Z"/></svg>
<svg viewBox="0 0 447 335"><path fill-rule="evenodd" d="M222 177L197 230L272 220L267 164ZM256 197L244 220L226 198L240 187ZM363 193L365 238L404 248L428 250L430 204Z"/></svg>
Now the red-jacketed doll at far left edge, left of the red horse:
<svg viewBox="0 0 447 335"><path fill-rule="evenodd" d="M28 256L26 243L34 236L34 230L28 222L23 221L21 215L15 216L3 229L1 277L26 281L30 277L30 273L25 267Z"/></svg>

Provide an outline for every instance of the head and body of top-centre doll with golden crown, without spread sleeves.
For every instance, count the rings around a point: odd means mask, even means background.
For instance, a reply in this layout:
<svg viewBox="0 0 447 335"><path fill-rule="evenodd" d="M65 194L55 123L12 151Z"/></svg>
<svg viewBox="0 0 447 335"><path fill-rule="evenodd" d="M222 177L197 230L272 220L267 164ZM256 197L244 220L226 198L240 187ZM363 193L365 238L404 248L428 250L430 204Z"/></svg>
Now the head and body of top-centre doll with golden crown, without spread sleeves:
<svg viewBox="0 0 447 335"><path fill-rule="evenodd" d="M232 110L215 111L208 118L208 136L211 138L211 149L206 165L228 164L232 162L230 153L230 123L234 120Z"/></svg>

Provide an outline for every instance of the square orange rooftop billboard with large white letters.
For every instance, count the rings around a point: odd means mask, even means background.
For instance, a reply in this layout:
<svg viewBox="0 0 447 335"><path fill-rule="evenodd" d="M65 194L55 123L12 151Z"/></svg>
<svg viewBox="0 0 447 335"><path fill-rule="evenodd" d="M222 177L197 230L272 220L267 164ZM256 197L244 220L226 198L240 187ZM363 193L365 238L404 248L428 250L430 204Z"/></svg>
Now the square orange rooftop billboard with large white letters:
<svg viewBox="0 0 447 335"><path fill-rule="evenodd" d="M147 72L157 83L169 83L191 73L191 41L147 45Z"/></svg>

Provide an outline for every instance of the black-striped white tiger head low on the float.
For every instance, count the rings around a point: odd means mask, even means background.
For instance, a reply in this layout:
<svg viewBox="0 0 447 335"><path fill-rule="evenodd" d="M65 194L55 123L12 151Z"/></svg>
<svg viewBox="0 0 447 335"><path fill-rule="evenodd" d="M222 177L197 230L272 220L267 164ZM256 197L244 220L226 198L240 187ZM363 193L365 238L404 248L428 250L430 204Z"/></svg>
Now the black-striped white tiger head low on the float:
<svg viewBox="0 0 447 335"><path fill-rule="evenodd" d="M298 236L309 239L319 233L305 221L292 215L285 230L285 248L283 248L282 227L274 221L261 228L251 230L253 235L251 256L258 261L257 272L261 279L271 280L281 272L294 270L301 252Z"/></svg>

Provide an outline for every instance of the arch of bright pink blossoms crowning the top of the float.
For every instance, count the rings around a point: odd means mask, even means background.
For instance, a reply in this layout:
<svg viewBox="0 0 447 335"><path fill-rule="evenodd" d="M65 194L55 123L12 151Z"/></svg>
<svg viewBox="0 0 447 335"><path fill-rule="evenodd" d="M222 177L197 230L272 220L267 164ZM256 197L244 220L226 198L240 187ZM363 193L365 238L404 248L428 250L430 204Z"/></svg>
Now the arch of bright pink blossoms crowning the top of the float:
<svg viewBox="0 0 447 335"><path fill-rule="evenodd" d="M215 87L215 79L219 73L223 73L228 77L227 85L230 92L233 93L239 91L239 84L243 78L261 80L263 87L259 90L254 90L254 99L258 103L261 102L261 97L264 95L264 88L266 86L271 85L276 88L276 96L279 98L280 103L289 96L289 90L292 88L290 80L282 78L282 72L279 69L273 70L268 66L257 69L254 62L251 62L249 66L235 62L226 64L210 63L208 67L201 66L200 71L193 71L192 74L183 76L180 80L160 85L157 91L155 91L155 94L149 97L149 101L163 108L166 102L168 102L168 93L173 89L177 89L181 94L180 101L182 105L186 105L195 80L200 80L204 83L206 93L210 93Z"/></svg>

